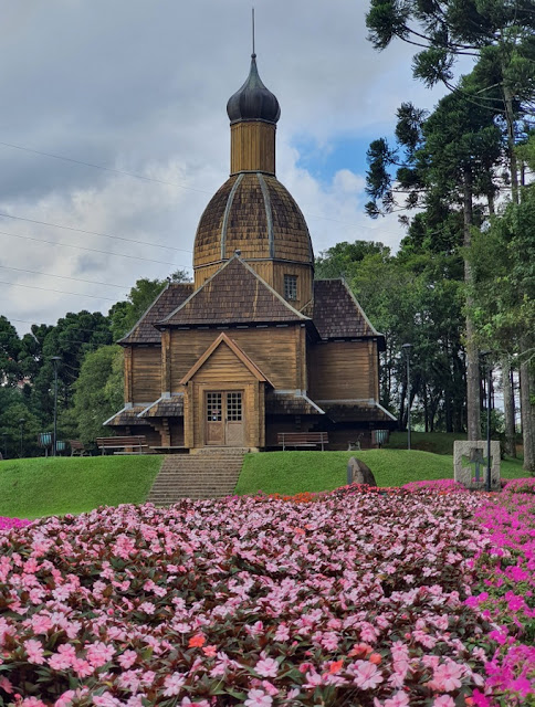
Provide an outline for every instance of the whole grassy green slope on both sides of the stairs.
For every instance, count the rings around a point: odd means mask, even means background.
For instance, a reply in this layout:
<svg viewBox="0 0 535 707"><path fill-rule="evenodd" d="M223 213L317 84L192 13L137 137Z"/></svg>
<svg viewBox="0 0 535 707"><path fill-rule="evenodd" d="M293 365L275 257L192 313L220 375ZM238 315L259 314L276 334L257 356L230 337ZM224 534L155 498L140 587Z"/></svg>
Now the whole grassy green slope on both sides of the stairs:
<svg viewBox="0 0 535 707"><path fill-rule="evenodd" d="M292 495L344 486L350 456L358 456L371 468L379 486L453 475L452 456L418 450L269 452L245 456L235 493ZM38 518L143 503L162 460L147 454L0 462L0 516ZM518 478L526 473L520 460L506 461L502 476Z"/></svg>

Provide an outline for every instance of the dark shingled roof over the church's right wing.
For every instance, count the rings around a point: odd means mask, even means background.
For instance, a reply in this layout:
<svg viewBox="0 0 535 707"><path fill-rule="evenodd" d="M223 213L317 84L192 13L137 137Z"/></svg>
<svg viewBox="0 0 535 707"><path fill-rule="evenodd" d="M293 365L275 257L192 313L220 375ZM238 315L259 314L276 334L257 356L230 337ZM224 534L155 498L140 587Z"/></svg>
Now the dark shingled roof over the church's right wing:
<svg viewBox="0 0 535 707"><path fill-rule="evenodd" d="M314 281L313 321L322 339L380 337L384 340L343 279Z"/></svg>

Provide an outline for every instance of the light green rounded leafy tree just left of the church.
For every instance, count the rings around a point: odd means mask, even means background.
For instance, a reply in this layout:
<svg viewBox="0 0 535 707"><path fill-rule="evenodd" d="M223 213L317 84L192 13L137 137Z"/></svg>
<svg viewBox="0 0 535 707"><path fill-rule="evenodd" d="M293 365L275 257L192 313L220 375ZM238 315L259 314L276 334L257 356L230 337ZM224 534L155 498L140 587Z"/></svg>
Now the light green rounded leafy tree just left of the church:
<svg viewBox="0 0 535 707"><path fill-rule="evenodd" d="M72 410L84 444L93 442L96 436L106 436L102 425L123 407L123 349L119 346L103 346L86 354L74 383Z"/></svg>

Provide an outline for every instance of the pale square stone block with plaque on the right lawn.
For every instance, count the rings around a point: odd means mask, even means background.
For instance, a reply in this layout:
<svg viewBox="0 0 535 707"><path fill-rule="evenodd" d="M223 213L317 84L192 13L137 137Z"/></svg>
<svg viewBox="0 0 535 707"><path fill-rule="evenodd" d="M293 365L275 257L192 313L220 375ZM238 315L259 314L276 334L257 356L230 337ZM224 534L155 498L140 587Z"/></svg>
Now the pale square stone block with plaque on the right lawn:
<svg viewBox="0 0 535 707"><path fill-rule="evenodd" d="M486 441L453 442L453 478L472 490L486 488ZM491 490L502 488L500 442L491 442Z"/></svg>

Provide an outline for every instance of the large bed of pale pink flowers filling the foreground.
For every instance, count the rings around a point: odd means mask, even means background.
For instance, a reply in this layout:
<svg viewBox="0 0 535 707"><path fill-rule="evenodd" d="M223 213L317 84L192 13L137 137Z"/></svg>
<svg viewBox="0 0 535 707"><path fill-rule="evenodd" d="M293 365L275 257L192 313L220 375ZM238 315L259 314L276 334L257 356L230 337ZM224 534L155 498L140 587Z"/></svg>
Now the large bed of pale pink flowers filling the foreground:
<svg viewBox="0 0 535 707"><path fill-rule="evenodd" d="M501 506L430 488L300 502L101 508L0 534L0 705L526 699L529 646L479 600Z"/></svg>

